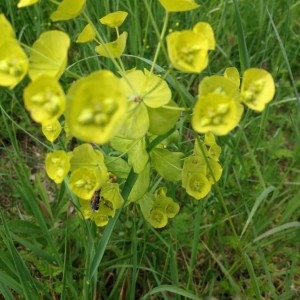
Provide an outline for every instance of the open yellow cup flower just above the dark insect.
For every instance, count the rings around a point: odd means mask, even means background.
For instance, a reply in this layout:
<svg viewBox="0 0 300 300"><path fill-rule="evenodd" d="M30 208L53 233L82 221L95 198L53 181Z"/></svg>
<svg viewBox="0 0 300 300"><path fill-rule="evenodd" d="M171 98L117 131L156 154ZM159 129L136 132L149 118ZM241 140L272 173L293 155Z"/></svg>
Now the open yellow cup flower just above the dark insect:
<svg viewBox="0 0 300 300"><path fill-rule="evenodd" d="M91 199L99 188L95 169L81 167L71 172L69 186L71 191L82 199Z"/></svg>

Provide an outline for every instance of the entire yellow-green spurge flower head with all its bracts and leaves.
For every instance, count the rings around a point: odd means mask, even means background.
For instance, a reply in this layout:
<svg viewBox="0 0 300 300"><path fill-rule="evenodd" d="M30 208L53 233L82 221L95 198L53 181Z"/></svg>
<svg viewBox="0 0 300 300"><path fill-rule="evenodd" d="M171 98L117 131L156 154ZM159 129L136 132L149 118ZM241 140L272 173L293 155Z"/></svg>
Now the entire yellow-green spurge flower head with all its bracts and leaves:
<svg viewBox="0 0 300 300"><path fill-rule="evenodd" d="M166 15L199 7L193 0L158 1ZM38 2L20 0L18 7ZM73 19L82 14L85 5L86 0L63 0L50 19ZM154 74L155 59L150 70L126 70L123 66L128 33L120 33L119 28L127 15L112 12L102 16L97 25L82 15L86 24L76 42L96 42L95 53L111 59L118 73L98 70L76 77L63 88L59 80L66 71L69 36L59 30L46 31L27 56L1 14L0 86L12 89L29 76L24 105L53 145L46 155L46 173L56 184L68 185L77 197L74 204L81 217L104 226L117 209L129 209L128 204L135 202L147 222L161 228L180 207L166 187L153 184L152 174L161 177L160 182L180 183L192 199L205 199L222 175L216 136L232 131L245 107L261 112L273 99L275 86L266 70L250 68L241 76L229 67L223 75L201 80L194 107L179 107L165 78ZM117 38L110 41L97 26L115 30ZM205 22L172 32L165 42L170 68L185 73L204 70L216 44L213 29ZM180 118L183 113L184 119ZM195 136L192 153L174 151L178 120L191 124ZM71 139L76 139L77 145L68 151ZM56 140L59 142L54 144ZM133 173L136 180L123 199L120 188Z"/></svg>

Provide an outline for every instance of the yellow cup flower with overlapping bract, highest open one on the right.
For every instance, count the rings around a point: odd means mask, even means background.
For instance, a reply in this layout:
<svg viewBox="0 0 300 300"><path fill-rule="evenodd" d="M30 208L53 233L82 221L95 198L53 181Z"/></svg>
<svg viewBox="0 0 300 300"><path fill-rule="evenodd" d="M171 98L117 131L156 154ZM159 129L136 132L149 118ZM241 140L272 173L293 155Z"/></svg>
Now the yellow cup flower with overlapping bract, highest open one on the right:
<svg viewBox="0 0 300 300"><path fill-rule="evenodd" d="M193 30L175 31L167 36L168 54L174 68L200 73L208 65L208 50L215 48L213 30L198 23Z"/></svg>

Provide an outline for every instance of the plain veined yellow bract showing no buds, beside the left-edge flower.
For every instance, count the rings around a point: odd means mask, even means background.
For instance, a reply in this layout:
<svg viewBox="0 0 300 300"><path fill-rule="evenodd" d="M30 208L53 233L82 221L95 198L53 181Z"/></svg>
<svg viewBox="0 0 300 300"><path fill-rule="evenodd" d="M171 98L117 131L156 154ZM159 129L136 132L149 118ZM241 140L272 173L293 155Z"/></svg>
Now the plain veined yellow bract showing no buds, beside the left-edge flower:
<svg viewBox="0 0 300 300"><path fill-rule="evenodd" d="M42 33L30 51L28 74L31 80L43 74L58 79L65 70L69 46L70 38L62 31Z"/></svg>

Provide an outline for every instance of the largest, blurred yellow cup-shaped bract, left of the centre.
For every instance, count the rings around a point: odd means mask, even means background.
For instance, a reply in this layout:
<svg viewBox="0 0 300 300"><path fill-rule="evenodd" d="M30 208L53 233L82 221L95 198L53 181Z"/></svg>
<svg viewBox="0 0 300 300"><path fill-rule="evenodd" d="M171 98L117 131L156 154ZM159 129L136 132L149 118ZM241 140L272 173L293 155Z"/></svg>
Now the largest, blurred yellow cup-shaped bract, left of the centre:
<svg viewBox="0 0 300 300"><path fill-rule="evenodd" d="M108 142L126 115L123 84L108 70L78 80L69 89L68 98L66 119L70 132L86 142Z"/></svg>

